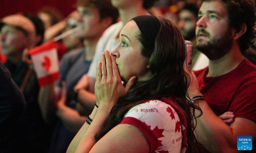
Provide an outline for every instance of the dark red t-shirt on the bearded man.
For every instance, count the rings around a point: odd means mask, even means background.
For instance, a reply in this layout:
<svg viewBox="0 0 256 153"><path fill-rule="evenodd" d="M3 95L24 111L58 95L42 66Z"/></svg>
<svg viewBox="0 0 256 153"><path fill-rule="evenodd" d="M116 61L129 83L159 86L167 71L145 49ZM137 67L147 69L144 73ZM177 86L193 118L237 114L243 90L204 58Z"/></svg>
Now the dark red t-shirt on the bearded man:
<svg viewBox="0 0 256 153"><path fill-rule="evenodd" d="M205 77L207 72L208 67L194 71L200 91L212 111L217 116L231 111L235 117L256 122L256 66L244 59L225 75Z"/></svg>

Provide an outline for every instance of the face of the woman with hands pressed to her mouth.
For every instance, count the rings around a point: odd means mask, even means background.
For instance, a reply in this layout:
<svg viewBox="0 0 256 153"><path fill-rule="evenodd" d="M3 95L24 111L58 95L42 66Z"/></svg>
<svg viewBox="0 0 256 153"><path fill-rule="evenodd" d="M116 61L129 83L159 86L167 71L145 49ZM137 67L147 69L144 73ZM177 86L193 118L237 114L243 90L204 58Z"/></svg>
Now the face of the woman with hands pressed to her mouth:
<svg viewBox="0 0 256 153"><path fill-rule="evenodd" d="M129 21L120 33L117 47L111 52L116 58L117 68L124 82L128 82L133 76L138 81L152 77L148 69L148 58L141 54L142 45L137 38L139 33L137 24L133 20Z"/></svg>

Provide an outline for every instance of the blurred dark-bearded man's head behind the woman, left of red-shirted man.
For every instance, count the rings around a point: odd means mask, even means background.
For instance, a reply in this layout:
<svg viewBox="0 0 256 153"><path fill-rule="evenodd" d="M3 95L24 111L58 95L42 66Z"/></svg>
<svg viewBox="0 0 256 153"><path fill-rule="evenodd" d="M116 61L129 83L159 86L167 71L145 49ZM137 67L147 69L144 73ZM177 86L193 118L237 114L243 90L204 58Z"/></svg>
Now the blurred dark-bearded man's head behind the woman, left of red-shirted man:
<svg viewBox="0 0 256 153"><path fill-rule="evenodd" d="M179 12L177 25L185 40L193 40L196 37L198 10L196 4L185 4Z"/></svg>

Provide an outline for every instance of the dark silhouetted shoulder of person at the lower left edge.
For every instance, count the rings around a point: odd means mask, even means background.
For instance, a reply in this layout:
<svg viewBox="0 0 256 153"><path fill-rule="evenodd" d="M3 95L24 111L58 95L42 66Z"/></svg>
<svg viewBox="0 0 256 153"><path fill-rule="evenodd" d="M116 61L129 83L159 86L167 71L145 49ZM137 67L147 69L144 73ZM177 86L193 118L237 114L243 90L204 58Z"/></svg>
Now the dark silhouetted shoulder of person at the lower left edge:
<svg viewBox="0 0 256 153"><path fill-rule="evenodd" d="M9 132L18 123L25 110L25 100L10 72L0 62L0 152L8 152L4 142L12 139ZM7 150L6 150L7 149Z"/></svg>

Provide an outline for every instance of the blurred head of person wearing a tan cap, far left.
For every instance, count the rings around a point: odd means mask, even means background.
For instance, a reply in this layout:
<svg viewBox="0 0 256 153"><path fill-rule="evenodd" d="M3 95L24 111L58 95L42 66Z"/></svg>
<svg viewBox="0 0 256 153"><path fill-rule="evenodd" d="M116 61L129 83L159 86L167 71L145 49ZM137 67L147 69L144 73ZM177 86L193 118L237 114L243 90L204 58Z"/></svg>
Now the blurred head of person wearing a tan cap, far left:
<svg viewBox="0 0 256 153"><path fill-rule="evenodd" d="M7 57L21 59L24 49L36 45L36 28L21 14L6 16L1 21L1 51Z"/></svg>

